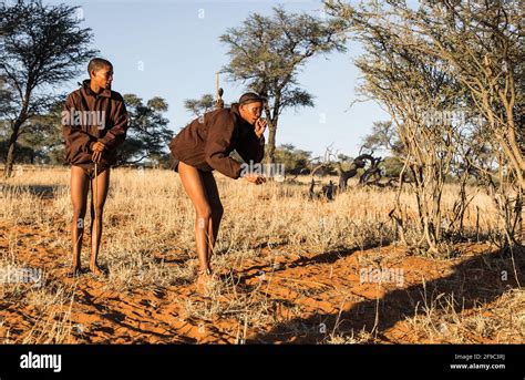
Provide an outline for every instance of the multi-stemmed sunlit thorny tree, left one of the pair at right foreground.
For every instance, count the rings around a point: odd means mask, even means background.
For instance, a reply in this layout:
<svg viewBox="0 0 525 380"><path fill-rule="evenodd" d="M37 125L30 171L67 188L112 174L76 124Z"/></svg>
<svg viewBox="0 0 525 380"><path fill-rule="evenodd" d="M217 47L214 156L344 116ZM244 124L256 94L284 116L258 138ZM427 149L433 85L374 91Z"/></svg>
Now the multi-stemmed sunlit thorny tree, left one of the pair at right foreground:
<svg viewBox="0 0 525 380"><path fill-rule="evenodd" d="M403 148L404 167L400 174L400 192L391 216L398 220L400 238L410 245L439 253L443 239L442 193L455 153L452 122L434 121L433 113L456 109L463 92L443 62L411 50L420 37L391 28L388 10L346 6L338 10L347 30L359 40L364 53L356 60L363 73L358 91L378 101L390 114ZM418 204L416 235L406 236L408 216L400 203L406 171L411 172ZM410 240L410 242L408 242Z"/></svg>

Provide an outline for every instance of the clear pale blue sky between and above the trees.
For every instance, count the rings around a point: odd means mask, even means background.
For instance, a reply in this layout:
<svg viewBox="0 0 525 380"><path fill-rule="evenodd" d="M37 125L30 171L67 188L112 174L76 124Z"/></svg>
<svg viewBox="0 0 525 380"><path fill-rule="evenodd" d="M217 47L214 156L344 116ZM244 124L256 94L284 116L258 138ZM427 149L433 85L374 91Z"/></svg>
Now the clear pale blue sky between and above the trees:
<svg viewBox="0 0 525 380"><path fill-rule="evenodd" d="M58 3L49 0L45 3ZM113 90L135 93L144 101L164 97L169 127L178 131L193 117L184 100L215 93L216 72L228 62L227 47L219 35L239 27L250 13L270 16L282 4L292 12L320 16L318 0L84 0L66 1L81 7L83 27L93 30L93 48L114 64ZM352 58L359 45L349 43L347 53L311 59L299 74L299 83L312 93L313 107L286 110L279 121L277 144L294 144L321 155L334 143L340 153L356 155L361 137L372 123L389 116L374 102L357 103L354 88L359 71ZM81 74L58 90L70 92ZM246 89L222 78L226 102L237 100ZM266 132L267 135L268 132Z"/></svg>

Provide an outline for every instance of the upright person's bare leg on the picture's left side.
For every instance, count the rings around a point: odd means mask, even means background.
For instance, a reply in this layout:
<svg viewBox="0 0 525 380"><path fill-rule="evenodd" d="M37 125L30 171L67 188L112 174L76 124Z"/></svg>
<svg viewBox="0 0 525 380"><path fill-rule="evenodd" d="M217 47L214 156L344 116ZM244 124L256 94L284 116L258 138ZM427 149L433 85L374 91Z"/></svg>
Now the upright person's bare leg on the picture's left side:
<svg viewBox="0 0 525 380"><path fill-rule="evenodd" d="M82 237L85 225L85 204L90 178L84 170L71 166L71 202L73 204L73 222L71 223L71 240L73 246L73 264L69 275L75 276L81 271L80 253L82 249Z"/></svg>

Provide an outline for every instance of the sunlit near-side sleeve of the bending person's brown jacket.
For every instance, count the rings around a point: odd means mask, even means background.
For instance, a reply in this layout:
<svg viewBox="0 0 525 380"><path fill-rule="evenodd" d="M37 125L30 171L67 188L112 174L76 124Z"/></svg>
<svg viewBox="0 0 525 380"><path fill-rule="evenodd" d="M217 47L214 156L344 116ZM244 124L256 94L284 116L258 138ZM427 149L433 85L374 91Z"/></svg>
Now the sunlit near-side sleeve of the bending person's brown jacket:
<svg viewBox="0 0 525 380"><path fill-rule="evenodd" d="M240 163L231 158L228 153L234 133L234 120L228 112L220 112L209 121L204 154L209 166L237 179L240 176Z"/></svg>

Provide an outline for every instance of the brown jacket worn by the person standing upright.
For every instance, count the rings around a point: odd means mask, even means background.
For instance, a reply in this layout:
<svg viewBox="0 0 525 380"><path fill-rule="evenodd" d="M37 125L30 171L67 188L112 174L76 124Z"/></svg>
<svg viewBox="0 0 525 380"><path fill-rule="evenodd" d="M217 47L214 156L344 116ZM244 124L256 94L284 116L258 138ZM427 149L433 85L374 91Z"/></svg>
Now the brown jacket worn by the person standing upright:
<svg viewBox="0 0 525 380"><path fill-rule="evenodd" d="M127 112L120 93L103 90L95 94L90 88L90 80L85 80L65 100L62 135L65 141L65 160L70 164L91 163L92 146L100 141L106 146L101 164L114 165L116 147L124 142L126 131Z"/></svg>

